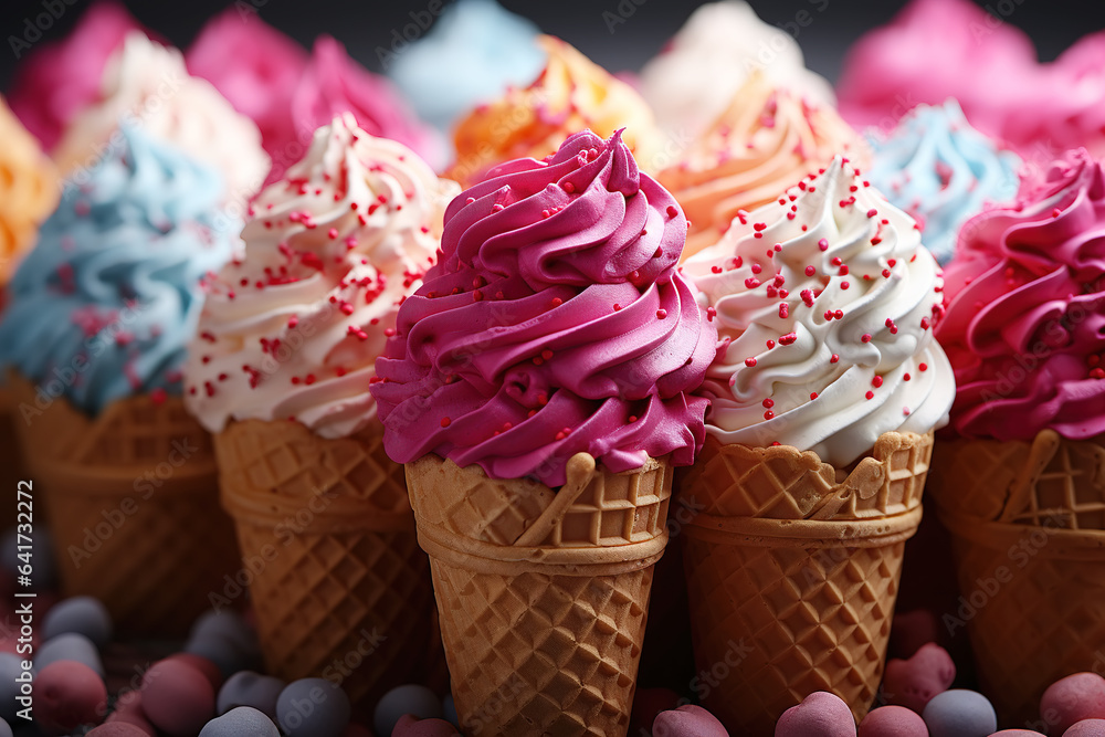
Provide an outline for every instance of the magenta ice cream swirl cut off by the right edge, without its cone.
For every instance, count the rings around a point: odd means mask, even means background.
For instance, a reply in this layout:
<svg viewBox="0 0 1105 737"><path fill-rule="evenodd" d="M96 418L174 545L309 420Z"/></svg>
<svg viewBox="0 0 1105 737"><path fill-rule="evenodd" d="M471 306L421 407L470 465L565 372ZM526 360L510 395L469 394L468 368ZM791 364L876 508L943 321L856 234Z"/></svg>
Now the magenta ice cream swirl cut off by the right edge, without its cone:
<svg viewBox="0 0 1105 737"><path fill-rule="evenodd" d="M1105 171L1069 151L1015 206L964 225L937 337L955 368L951 430L1031 440L1105 432Z"/></svg>

